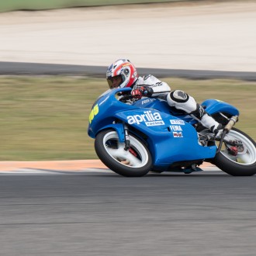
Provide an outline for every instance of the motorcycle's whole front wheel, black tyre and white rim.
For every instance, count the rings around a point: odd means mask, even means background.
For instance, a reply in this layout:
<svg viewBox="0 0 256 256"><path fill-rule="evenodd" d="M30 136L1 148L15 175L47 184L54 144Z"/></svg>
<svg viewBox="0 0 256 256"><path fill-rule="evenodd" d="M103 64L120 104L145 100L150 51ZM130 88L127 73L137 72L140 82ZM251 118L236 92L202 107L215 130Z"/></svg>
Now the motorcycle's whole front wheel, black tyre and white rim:
<svg viewBox="0 0 256 256"><path fill-rule="evenodd" d="M126 177L146 175L152 166L152 157L144 143L130 134L130 148L124 147L115 130L102 130L95 138L96 154L109 169Z"/></svg>

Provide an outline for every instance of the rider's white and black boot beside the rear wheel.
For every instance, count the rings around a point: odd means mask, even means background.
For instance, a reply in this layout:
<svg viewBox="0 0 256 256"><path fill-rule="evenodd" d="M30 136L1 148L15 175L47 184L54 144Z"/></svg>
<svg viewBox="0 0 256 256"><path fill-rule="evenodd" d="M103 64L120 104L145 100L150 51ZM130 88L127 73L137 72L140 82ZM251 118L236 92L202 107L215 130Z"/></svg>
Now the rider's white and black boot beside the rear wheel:
<svg viewBox="0 0 256 256"><path fill-rule="evenodd" d="M202 126L208 128L212 133L218 134L220 133L220 130L223 129L223 125L213 119L212 116L209 116L205 109L199 104L197 104L195 111L190 113L190 116L198 119L199 122L202 123Z"/></svg>

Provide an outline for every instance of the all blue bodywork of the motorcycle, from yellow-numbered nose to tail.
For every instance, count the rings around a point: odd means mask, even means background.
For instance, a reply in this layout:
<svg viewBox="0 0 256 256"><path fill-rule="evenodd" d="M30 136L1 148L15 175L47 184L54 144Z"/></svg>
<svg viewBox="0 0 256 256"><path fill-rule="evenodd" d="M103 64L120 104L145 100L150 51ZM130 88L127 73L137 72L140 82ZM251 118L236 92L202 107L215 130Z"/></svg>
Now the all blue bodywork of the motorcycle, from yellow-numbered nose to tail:
<svg viewBox="0 0 256 256"><path fill-rule="evenodd" d="M192 126L196 121L190 116L175 112L167 102L159 99L145 98L133 105L124 104L116 99L116 93L121 91L128 92L130 88L109 90L95 102L89 116L90 137L95 138L99 131L112 128L118 133L119 140L124 141L123 123L126 123L130 132L144 137L154 159L154 166L160 168L177 161L215 156L215 145L202 147L199 144L198 134ZM210 99L203 104L209 113L223 110L232 115L238 114L236 108L225 102Z"/></svg>

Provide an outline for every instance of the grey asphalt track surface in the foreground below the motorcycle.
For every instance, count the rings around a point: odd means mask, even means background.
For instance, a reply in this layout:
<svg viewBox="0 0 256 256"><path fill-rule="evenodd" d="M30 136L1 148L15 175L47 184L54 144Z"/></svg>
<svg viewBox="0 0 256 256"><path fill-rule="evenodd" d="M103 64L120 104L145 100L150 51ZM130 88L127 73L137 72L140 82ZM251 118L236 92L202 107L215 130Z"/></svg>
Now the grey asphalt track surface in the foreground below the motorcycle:
<svg viewBox="0 0 256 256"><path fill-rule="evenodd" d="M1 175L1 255L254 255L255 179Z"/></svg>

